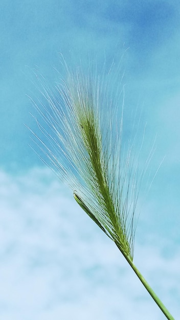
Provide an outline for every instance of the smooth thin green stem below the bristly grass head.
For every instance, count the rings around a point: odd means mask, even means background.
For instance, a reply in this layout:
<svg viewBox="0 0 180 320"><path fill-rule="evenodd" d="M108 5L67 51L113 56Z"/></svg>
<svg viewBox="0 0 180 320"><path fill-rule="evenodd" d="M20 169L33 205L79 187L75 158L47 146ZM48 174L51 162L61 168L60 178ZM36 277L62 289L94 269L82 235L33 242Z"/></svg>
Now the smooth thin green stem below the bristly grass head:
<svg viewBox="0 0 180 320"><path fill-rule="evenodd" d="M117 243L116 243L117 245ZM117 245L118 246L118 245ZM122 251L121 251L122 252ZM122 252L123 254L123 252ZM134 272L136 273L136 275L138 276L138 278L140 279L140 281L142 282L142 284L145 286L146 290L149 292L149 294L152 296L152 299L155 301L155 303L160 307L160 309L163 311L164 315L167 317L168 320L175 320L173 318L173 316L169 313L169 311L166 309L166 307L164 306L164 304L162 303L162 301L158 298L158 295L155 294L155 292L152 290L152 288L150 287L150 285L147 283L147 281L144 279L144 277L142 276L141 272L138 270L138 268L136 267L136 265L133 264L133 262L131 261L130 257L125 256L125 254L123 254L123 256L125 257L125 259L127 260L127 262L130 264L131 268L134 270Z"/></svg>

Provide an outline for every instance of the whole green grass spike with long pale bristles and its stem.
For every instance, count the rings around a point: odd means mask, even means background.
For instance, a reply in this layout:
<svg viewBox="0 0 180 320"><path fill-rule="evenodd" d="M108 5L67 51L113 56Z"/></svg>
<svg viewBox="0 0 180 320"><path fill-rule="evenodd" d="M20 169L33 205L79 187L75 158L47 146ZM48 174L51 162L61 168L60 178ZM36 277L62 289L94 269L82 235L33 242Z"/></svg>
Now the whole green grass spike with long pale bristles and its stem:
<svg viewBox="0 0 180 320"><path fill-rule="evenodd" d="M173 320L133 263L134 214L145 170L140 172L134 155L135 139L130 143L123 135L121 81L114 99L110 73L107 81L97 71L92 76L88 70L84 76L82 70L67 69L67 74L67 82L61 81L54 90L46 89L41 80L44 102L33 102L43 119L42 125L35 118L42 133L42 138L34 133L38 153L69 185L80 207L115 242L164 315ZM151 156L152 152L145 167Z"/></svg>

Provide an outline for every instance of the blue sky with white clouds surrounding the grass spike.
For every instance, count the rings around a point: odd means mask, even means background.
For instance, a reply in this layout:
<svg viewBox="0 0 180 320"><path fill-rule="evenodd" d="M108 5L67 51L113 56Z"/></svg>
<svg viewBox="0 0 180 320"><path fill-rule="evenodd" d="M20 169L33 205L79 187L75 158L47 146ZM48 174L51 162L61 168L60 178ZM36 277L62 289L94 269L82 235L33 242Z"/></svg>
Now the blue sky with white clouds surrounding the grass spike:
<svg viewBox="0 0 180 320"><path fill-rule="evenodd" d="M2 319L164 319L113 243L44 168L24 125L34 129L28 96L40 98L34 68L53 87L59 53L72 67L104 57L108 65L127 48L125 107L142 110L146 151L156 135L152 175L165 157L140 194L134 261L178 316L179 14L177 1L1 1Z"/></svg>

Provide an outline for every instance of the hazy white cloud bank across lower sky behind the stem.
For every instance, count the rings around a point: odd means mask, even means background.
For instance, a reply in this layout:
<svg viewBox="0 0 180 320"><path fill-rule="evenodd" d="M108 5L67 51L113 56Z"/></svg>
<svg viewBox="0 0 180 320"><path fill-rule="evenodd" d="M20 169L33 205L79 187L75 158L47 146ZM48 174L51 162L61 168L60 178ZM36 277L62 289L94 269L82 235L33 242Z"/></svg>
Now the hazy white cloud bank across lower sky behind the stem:
<svg viewBox="0 0 180 320"><path fill-rule="evenodd" d="M0 177L2 319L164 319L114 243L47 169ZM176 317L179 252L167 259L162 241L137 240L135 263Z"/></svg>

